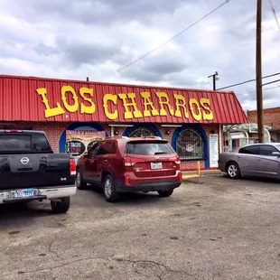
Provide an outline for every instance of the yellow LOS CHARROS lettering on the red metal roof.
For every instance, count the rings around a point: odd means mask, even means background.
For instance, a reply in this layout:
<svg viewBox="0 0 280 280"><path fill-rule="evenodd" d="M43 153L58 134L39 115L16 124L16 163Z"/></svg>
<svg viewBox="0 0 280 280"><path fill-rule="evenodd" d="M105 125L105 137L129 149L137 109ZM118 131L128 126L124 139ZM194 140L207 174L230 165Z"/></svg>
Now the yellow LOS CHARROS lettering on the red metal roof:
<svg viewBox="0 0 280 280"><path fill-rule="evenodd" d="M80 114L94 114L97 108L93 97L93 89L80 88L79 92L76 92L71 86L61 87L61 100L57 101L54 107L51 107L47 89L36 89L37 93L42 98L44 104L45 117L55 117L65 114L67 111L75 113L79 111ZM173 93L169 96L163 91L156 91L154 93L157 102L153 102L151 92L140 92L142 99L141 104L136 103L135 93L119 93L111 94L107 93L102 98L102 106L104 114L107 119L115 120L119 117L117 110L117 101L121 102L124 107L124 118L132 119L139 117L156 117L156 116L173 116L173 117L185 117L189 118L189 114L197 120L212 120L213 113L210 109L209 98L185 98L182 94ZM82 99L80 102L79 99ZM173 98L172 106L170 98Z"/></svg>

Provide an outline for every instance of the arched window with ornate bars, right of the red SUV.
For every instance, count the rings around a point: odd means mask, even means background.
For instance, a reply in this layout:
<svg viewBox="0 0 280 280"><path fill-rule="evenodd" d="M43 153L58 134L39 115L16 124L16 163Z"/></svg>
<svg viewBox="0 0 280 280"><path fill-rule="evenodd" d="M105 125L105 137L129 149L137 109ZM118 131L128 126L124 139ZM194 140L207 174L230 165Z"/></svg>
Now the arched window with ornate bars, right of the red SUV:
<svg viewBox="0 0 280 280"><path fill-rule="evenodd" d="M185 128L177 137L176 152L182 160L202 159L204 145L199 132L192 128Z"/></svg>

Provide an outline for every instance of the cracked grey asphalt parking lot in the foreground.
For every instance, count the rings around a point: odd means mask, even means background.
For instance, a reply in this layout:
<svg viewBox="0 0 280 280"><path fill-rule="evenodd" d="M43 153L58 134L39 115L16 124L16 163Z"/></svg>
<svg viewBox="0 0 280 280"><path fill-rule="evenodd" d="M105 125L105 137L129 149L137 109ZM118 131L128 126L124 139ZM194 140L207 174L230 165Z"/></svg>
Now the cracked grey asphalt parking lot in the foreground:
<svg viewBox="0 0 280 280"><path fill-rule="evenodd" d="M170 198L0 208L0 279L280 279L280 184L207 174Z"/></svg>

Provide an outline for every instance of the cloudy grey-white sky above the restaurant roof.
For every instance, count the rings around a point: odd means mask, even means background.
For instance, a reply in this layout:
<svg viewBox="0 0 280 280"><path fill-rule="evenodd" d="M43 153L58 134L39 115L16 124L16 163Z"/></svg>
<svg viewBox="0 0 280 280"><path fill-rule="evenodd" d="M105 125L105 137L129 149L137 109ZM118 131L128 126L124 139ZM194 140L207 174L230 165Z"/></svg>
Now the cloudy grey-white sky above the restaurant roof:
<svg viewBox="0 0 280 280"><path fill-rule="evenodd" d="M280 21L280 1L272 1ZM257 0L231 0L117 71L223 2L0 0L0 73L196 89L211 89L215 71L218 88L254 79ZM263 76L280 72L280 31L269 0L263 0L262 42ZM264 82L273 79L280 75ZM280 82L264 89L264 107L280 106ZM232 90L245 109L256 108L254 82Z"/></svg>

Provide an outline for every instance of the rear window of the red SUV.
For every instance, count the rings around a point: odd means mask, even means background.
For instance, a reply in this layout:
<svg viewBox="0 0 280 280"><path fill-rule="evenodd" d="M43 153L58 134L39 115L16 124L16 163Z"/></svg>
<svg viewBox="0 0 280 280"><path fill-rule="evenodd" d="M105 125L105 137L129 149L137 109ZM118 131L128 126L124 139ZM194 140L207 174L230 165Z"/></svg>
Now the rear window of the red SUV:
<svg viewBox="0 0 280 280"><path fill-rule="evenodd" d="M164 141L133 141L126 143L126 154L173 154L173 147Z"/></svg>

